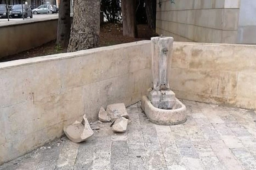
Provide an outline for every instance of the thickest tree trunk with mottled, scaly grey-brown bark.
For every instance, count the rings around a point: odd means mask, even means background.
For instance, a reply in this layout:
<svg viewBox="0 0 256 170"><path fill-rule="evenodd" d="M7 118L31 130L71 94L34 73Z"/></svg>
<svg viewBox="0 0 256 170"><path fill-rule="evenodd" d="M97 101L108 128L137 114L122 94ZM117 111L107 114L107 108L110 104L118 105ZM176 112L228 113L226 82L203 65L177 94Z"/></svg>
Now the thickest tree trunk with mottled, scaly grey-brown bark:
<svg viewBox="0 0 256 170"><path fill-rule="evenodd" d="M100 0L74 0L68 52L100 45Z"/></svg>

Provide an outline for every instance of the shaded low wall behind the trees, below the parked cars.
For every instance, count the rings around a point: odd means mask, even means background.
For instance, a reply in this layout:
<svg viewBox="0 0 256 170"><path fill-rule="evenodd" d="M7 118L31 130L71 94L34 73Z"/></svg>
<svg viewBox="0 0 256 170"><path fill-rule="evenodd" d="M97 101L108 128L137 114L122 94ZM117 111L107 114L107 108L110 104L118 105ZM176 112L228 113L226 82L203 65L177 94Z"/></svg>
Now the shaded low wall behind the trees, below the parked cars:
<svg viewBox="0 0 256 170"><path fill-rule="evenodd" d="M55 40L57 26L58 19L56 17L0 24L0 58Z"/></svg>

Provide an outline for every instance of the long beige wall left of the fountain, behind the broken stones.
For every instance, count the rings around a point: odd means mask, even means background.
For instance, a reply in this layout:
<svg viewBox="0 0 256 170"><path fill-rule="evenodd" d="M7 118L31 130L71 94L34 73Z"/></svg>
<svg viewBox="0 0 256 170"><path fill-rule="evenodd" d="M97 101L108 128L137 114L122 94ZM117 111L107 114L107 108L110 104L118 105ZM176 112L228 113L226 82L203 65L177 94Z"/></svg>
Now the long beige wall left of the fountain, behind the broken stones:
<svg viewBox="0 0 256 170"><path fill-rule="evenodd" d="M101 106L140 101L151 85L150 43L0 63L0 164L63 134Z"/></svg>

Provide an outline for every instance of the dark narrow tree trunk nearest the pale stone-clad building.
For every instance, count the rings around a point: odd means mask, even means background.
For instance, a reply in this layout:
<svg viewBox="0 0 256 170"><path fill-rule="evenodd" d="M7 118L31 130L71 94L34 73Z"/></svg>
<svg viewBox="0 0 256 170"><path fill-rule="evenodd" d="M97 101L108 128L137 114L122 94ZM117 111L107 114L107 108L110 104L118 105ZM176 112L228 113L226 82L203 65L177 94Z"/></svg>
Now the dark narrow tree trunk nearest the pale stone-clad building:
<svg viewBox="0 0 256 170"><path fill-rule="evenodd" d="M156 29L156 0L145 0L148 27Z"/></svg>

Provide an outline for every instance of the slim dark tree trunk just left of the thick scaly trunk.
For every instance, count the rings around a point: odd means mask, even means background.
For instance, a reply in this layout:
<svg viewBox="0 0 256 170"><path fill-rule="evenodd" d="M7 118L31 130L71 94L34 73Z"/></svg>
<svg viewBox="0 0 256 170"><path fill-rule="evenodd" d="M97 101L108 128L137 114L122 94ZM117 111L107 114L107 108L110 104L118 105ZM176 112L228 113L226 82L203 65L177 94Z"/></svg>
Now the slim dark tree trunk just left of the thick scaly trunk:
<svg viewBox="0 0 256 170"><path fill-rule="evenodd" d="M68 47L70 28L70 0L60 0L56 44L60 45L62 48Z"/></svg>

